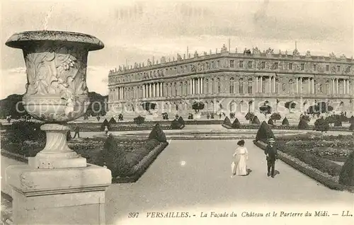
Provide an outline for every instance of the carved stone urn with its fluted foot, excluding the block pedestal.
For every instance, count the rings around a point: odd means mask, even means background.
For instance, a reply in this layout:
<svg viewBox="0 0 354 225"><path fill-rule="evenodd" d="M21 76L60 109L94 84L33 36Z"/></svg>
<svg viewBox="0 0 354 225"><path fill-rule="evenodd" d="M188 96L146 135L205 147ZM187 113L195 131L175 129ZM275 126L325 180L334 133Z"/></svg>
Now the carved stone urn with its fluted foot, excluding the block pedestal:
<svg viewBox="0 0 354 225"><path fill-rule="evenodd" d="M9 47L23 50L27 74L23 96L25 110L42 120L45 148L28 159L34 168L86 167L86 158L67 145L66 122L81 117L89 105L86 67L89 51L101 50L101 40L91 35L38 30L16 33Z"/></svg>

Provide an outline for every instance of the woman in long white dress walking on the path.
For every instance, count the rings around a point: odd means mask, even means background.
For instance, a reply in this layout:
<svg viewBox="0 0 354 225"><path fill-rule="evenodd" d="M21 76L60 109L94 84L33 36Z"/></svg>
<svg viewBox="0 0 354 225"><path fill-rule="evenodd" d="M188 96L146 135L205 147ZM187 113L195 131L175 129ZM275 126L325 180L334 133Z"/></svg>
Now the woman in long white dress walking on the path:
<svg viewBox="0 0 354 225"><path fill-rule="evenodd" d="M234 168L234 175L248 175L249 172L247 170L247 163L246 161L249 159L249 151L247 151L246 147L244 146L244 140L237 142L237 149L235 153L232 155L235 158L235 168Z"/></svg>

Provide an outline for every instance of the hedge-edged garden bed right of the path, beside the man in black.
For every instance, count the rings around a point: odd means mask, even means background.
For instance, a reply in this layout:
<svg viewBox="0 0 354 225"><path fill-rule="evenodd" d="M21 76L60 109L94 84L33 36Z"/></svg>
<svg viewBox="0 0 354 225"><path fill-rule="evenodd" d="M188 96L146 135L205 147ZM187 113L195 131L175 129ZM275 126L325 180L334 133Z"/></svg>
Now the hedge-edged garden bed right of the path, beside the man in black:
<svg viewBox="0 0 354 225"><path fill-rule="evenodd" d="M266 131L265 127L268 127ZM273 132L268 125L262 125L253 143L264 150L270 137L274 137ZM275 138L275 146L278 149L278 158L298 171L331 189L354 192L353 185L343 185L340 181L344 177L347 180L353 179L353 174L343 170L341 163L338 163L346 161L347 168L351 168L350 156L353 155L354 149L352 135L287 135Z"/></svg>

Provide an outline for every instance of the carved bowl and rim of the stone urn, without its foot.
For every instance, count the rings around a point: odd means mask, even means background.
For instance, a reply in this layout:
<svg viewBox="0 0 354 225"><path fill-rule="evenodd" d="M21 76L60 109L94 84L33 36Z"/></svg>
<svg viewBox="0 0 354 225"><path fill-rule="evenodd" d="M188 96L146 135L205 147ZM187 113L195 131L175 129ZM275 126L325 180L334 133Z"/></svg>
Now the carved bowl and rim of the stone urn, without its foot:
<svg viewBox="0 0 354 225"><path fill-rule="evenodd" d="M23 50L27 73L25 110L38 120L67 122L89 105L87 56L103 48L96 37L59 31L16 33L6 45Z"/></svg>

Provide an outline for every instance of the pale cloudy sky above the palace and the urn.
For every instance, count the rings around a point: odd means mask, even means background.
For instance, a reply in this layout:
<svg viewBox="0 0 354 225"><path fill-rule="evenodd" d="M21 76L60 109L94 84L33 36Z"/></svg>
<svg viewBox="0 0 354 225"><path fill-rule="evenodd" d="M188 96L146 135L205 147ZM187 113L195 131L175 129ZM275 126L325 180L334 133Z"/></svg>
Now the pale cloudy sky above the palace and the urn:
<svg viewBox="0 0 354 225"><path fill-rule="evenodd" d="M176 58L198 51L215 53L271 47L300 54L352 57L353 0L309 1L1 1L1 98L25 93L21 50L5 45L13 33L63 30L87 33L104 43L89 52L89 91L108 94L108 71L147 59ZM47 20L46 20L47 18Z"/></svg>

